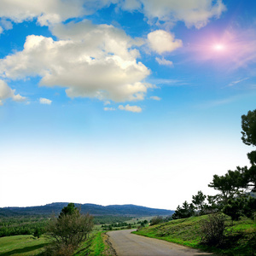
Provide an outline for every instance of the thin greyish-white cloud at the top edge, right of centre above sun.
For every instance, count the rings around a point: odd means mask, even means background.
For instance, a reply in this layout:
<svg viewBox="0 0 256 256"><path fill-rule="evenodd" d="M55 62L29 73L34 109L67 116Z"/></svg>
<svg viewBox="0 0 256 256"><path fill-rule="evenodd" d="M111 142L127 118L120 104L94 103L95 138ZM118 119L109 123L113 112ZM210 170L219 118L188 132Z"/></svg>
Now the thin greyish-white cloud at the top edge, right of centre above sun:
<svg viewBox="0 0 256 256"><path fill-rule="evenodd" d="M131 11L132 6L134 9L139 6L149 20L183 20L186 26L196 28L206 26L211 18L218 18L226 9L222 0L137 0L137 4L128 5L129 2L130 0L125 0L120 3L121 8Z"/></svg>

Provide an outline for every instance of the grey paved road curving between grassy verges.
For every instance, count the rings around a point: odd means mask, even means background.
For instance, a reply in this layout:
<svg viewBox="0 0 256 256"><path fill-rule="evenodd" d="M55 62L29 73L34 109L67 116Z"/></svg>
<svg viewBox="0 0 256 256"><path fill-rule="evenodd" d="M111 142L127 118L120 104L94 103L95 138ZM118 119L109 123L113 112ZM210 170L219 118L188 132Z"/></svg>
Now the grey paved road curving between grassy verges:
<svg viewBox="0 0 256 256"><path fill-rule="evenodd" d="M109 241L118 256L185 256L212 255L172 242L131 234L135 230L108 232Z"/></svg>

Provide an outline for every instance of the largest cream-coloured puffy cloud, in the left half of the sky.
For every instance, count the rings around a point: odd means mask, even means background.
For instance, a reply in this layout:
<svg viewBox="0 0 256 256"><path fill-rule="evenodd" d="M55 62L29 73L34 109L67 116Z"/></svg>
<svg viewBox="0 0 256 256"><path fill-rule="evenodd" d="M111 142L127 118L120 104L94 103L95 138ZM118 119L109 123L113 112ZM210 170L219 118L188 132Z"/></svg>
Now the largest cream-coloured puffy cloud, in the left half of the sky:
<svg viewBox="0 0 256 256"><path fill-rule="evenodd" d="M24 49L0 60L0 76L24 79L41 76L40 85L67 88L70 97L96 97L114 102L143 100L150 71L137 62L137 42L124 31L89 21L52 28L58 41L26 38Z"/></svg>

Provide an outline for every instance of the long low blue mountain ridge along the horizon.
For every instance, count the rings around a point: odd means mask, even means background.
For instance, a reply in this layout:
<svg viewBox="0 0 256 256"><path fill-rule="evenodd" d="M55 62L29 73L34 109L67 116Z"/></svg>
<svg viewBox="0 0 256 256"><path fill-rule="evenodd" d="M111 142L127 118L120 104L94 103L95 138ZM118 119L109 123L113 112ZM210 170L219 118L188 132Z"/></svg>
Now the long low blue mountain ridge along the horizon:
<svg viewBox="0 0 256 256"><path fill-rule="evenodd" d="M50 215L59 214L63 207L67 207L67 202L56 202L41 207L3 207L0 208L0 216L17 215ZM156 216L172 215L174 211L164 209L154 209L148 207L139 207L134 205L113 205L103 207L94 204L75 204L81 209L81 212L89 212L92 215L123 215L123 216Z"/></svg>

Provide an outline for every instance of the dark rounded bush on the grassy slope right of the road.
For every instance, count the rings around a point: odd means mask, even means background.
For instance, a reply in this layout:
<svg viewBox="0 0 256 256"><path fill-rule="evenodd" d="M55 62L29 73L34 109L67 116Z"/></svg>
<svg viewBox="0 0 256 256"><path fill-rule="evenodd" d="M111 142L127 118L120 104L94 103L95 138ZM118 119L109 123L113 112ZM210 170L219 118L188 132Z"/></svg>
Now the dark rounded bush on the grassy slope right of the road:
<svg viewBox="0 0 256 256"><path fill-rule="evenodd" d="M218 246L224 241L225 217L223 214L213 213L201 221L201 243L208 246Z"/></svg>

